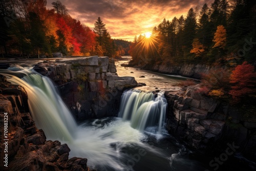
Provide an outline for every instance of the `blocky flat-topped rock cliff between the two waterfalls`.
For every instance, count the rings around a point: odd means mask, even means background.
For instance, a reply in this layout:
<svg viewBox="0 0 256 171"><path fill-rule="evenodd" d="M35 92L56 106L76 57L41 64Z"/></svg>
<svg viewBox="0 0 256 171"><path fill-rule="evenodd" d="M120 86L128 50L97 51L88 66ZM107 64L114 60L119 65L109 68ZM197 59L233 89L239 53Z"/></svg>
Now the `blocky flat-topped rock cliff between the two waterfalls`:
<svg viewBox="0 0 256 171"><path fill-rule="evenodd" d="M79 121L117 116L123 91L138 85L134 77L119 77L114 60L106 56L45 61L34 69L57 84Z"/></svg>

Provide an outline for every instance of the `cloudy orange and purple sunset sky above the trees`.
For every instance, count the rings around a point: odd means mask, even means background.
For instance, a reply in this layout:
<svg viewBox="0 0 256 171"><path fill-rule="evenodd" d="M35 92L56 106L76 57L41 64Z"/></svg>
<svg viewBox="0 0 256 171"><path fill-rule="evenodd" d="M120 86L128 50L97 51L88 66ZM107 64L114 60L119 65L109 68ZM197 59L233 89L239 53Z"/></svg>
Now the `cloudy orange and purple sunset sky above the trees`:
<svg viewBox="0 0 256 171"><path fill-rule="evenodd" d="M47 8L52 2L47 0ZM214 0L59 0L68 13L91 29L98 17L103 20L112 38L133 41L135 35L151 32L164 18L186 17L190 8L208 7Z"/></svg>

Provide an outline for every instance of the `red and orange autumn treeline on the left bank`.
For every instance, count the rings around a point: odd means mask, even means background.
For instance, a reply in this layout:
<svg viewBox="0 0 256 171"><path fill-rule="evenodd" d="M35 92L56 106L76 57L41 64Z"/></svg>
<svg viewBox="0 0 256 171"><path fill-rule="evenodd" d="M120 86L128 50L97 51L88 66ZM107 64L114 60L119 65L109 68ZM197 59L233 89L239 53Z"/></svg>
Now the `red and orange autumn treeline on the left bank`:
<svg viewBox="0 0 256 171"><path fill-rule="evenodd" d="M113 41L101 18L91 30L68 14L60 1L46 9L46 0L0 1L0 49L2 56L30 56L53 52L73 56L119 56L127 46ZM124 51L124 52L123 52Z"/></svg>

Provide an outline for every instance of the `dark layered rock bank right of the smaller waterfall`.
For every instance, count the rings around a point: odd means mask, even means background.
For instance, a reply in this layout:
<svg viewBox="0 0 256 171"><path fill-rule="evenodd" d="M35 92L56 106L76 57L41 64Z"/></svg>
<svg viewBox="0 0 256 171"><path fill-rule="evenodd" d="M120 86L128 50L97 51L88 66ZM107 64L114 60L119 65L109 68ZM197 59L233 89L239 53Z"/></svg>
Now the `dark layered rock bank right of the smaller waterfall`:
<svg viewBox="0 0 256 171"><path fill-rule="evenodd" d="M167 130L203 153L219 152L227 143L239 146L248 158L256 158L256 124L242 121L240 113L224 102L197 93L197 86L174 94L168 101Z"/></svg>

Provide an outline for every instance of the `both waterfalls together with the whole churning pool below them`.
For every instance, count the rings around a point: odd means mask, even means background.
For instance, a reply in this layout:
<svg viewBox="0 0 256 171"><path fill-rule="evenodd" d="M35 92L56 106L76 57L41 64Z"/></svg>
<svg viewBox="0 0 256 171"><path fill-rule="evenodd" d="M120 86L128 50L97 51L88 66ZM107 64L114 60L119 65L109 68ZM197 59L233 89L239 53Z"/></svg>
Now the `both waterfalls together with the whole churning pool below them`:
<svg viewBox="0 0 256 171"><path fill-rule="evenodd" d="M47 139L67 143L70 158L88 158L90 168L187 171L209 167L212 157L195 155L165 131L167 102L162 92L126 91L119 117L77 125L49 78L26 67L0 72L26 89L30 113Z"/></svg>

